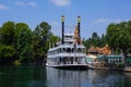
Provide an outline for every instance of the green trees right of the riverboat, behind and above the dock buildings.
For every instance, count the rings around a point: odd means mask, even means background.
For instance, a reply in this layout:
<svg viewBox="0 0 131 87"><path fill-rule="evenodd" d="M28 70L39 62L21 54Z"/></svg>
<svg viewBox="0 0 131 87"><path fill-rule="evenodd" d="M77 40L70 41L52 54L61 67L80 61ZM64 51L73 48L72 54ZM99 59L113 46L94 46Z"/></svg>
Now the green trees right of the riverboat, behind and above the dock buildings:
<svg viewBox="0 0 131 87"><path fill-rule="evenodd" d="M97 33L93 33L92 37L83 42L87 49L91 45L104 47L108 44L112 54L122 54L126 63L127 55L131 54L131 21L109 24L105 35L98 36Z"/></svg>

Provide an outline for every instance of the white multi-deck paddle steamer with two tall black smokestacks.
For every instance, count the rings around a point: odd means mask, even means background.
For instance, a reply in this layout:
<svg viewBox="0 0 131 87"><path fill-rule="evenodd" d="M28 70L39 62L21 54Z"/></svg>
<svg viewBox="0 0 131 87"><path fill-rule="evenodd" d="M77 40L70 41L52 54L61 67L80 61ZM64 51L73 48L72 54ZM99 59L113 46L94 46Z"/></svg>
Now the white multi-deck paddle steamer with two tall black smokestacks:
<svg viewBox="0 0 131 87"><path fill-rule="evenodd" d="M82 45L80 36L81 17L78 16L78 25L74 33L64 33L64 16L61 16L62 40L56 47L49 48L47 53L47 66L58 69L87 69L85 63L86 48Z"/></svg>

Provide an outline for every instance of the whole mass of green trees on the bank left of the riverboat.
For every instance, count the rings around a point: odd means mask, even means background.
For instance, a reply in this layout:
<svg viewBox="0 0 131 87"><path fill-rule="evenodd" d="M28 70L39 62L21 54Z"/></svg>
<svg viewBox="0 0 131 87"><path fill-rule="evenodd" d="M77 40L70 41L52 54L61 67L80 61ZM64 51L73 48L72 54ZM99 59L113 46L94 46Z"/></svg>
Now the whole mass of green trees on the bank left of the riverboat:
<svg viewBox="0 0 131 87"><path fill-rule="evenodd" d="M49 42L60 40L41 22L34 30L25 23L5 22L0 27L0 64L37 64L46 60Z"/></svg>

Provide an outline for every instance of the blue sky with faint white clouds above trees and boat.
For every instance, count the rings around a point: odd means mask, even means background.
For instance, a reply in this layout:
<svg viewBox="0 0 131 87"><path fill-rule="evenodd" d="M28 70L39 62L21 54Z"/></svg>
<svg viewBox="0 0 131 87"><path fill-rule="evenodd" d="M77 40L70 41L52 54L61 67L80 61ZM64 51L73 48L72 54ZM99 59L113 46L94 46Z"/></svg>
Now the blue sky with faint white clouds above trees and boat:
<svg viewBox="0 0 131 87"><path fill-rule="evenodd" d="M131 0L0 0L0 26L13 21L35 29L47 22L61 36L61 15L66 16L66 32L74 32L81 16L81 36L87 39L94 32L106 34L110 23L131 20Z"/></svg>

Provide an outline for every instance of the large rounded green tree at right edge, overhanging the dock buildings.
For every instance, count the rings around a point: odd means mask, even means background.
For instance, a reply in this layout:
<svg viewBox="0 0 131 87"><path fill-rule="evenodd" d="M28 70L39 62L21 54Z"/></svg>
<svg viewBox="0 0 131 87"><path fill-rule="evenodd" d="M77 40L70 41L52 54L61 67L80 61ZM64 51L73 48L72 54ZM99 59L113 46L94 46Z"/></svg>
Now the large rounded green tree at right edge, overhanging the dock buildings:
<svg viewBox="0 0 131 87"><path fill-rule="evenodd" d="M107 41L114 50L119 50L123 58L127 58L131 50L131 22L122 22L119 24L110 24L107 27Z"/></svg>

